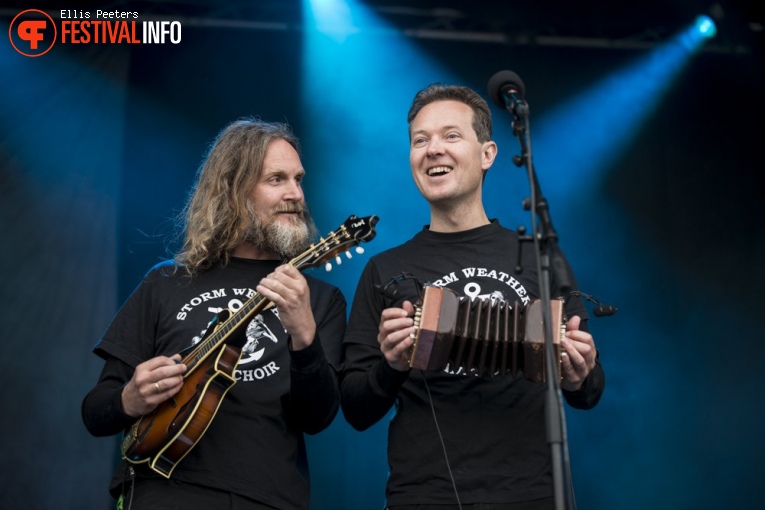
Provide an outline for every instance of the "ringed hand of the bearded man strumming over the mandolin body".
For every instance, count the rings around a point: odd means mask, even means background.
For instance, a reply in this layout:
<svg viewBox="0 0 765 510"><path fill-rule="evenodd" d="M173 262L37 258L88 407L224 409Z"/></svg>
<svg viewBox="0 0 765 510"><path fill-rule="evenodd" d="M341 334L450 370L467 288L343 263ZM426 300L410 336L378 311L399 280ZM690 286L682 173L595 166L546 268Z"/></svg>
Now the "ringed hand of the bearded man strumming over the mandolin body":
<svg viewBox="0 0 765 510"><path fill-rule="evenodd" d="M157 356L144 361L122 388L122 410L137 418L152 412L159 404L174 396L183 387L186 365L181 355Z"/></svg>

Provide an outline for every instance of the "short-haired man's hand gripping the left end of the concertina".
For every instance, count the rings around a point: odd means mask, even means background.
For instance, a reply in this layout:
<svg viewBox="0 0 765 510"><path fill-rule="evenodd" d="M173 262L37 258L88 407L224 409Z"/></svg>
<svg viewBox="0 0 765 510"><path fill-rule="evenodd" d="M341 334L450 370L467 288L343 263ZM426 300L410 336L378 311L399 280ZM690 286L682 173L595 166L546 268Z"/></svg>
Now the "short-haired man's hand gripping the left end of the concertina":
<svg viewBox="0 0 765 510"><path fill-rule="evenodd" d="M402 308L386 308L380 316L380 329L377 342L385 360L395 370L409 370L409 354L416 333L414 327L414 305L404 301Z"/></svg>

